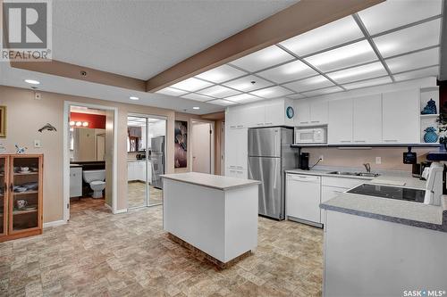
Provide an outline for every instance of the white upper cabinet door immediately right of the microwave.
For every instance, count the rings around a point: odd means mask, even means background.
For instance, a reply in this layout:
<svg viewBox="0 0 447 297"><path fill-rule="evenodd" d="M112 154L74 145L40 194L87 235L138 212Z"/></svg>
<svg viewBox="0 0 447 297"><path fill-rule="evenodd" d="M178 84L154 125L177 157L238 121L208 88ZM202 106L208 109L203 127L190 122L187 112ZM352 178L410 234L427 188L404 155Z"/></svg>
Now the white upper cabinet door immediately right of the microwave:
<svg viewBox="0 0 447 297"><path fill-rule="evenodd" d="M328 144L352 144L352 98L328 103Z"/></svg>

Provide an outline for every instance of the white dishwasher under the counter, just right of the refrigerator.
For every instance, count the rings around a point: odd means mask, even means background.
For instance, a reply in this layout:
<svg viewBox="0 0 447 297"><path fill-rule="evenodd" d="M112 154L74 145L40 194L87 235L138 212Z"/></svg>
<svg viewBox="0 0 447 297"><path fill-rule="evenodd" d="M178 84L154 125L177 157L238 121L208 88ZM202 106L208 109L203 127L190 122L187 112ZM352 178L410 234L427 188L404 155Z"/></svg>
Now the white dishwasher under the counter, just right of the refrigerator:
<svg viewBox="0 0 447 297"><path fill-rule="evenodd" d="M285 193L288 219L320 225L321 177L287 174Z"/></svg>

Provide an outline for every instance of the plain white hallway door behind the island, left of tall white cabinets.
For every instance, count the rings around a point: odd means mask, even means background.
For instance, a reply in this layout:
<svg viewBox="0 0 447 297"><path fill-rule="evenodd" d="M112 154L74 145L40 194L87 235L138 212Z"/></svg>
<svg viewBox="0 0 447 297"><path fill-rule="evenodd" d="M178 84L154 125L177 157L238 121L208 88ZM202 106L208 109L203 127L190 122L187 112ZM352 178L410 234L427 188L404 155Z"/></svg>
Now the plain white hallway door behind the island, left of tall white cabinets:
<svg viewBox="0 0 447 297"><path fill-rule="evenodd" d="M192 120L192 171L214 174L214 123Z"/></svg>

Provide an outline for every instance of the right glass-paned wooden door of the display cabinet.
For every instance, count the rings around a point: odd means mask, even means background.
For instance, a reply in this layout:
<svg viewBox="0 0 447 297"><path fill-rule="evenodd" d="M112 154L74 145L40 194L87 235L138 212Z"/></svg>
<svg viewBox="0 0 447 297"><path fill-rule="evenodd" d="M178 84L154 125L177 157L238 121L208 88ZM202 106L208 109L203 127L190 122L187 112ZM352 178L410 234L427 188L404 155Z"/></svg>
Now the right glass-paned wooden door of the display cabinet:
<svg viewBox="0 0 447 297"><path fill-rule="evenodd" d="M42 228L41 155L10 158L9 235Z"/></svg>

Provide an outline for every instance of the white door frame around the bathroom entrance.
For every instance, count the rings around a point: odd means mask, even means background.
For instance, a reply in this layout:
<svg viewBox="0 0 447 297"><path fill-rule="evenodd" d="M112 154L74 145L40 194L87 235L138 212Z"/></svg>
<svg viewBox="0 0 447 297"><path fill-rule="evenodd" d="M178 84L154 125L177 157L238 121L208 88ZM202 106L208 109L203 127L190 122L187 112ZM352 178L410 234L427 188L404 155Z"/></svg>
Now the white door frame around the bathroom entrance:
<svg viewBox="0 0 447 297"><path fill-rule="evenodd" d="M70 128L70 108L72 106L82 106L97 110L114 111L114 155L112 161L112 205L107 205L112 213L119 213L117 208L118 197L118 108L113 106L98 105L91 103L80 103L75 101L63 102L63 220L70 219L70 140L68 139Z"/></svg>

